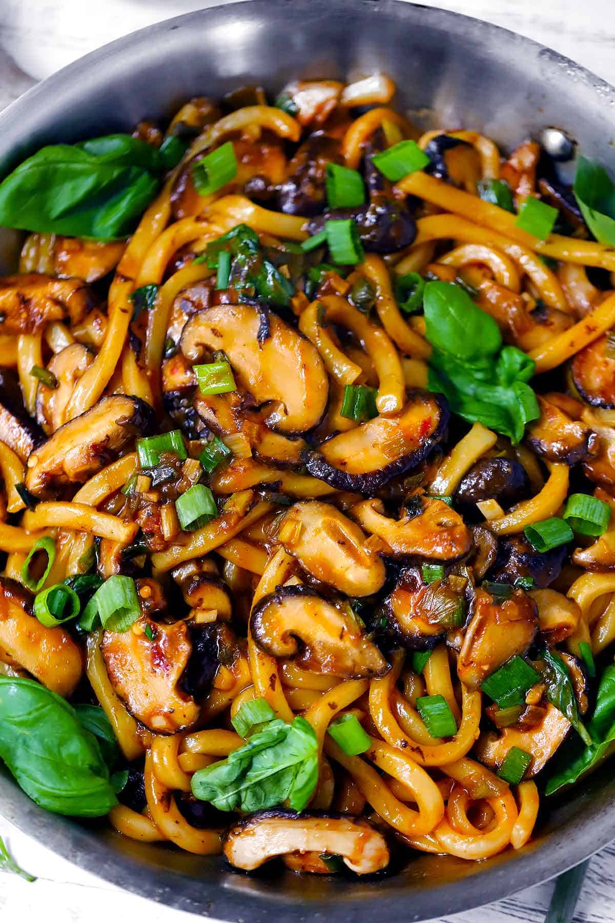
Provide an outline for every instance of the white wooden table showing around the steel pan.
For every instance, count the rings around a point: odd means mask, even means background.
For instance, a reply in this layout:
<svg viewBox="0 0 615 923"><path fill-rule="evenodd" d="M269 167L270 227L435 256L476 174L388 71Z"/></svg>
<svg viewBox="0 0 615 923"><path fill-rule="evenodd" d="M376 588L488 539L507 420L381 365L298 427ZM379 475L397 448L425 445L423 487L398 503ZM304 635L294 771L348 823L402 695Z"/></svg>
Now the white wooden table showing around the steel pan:
<svg viewBox="0 0 615 923"><path fill-rule="evenodd" d="M521 32L615 84L615 0L421 2ZM27 90L32 78L47 77L103 42L203 6L212 4L207 0L0 0L0 45L9 55L5 60L0 58L0 108ZM142 898L77 869L18 833L2 818L0 835L22 866L39 876L29 884L0 873L3 920L108 923L110 919L130 920L145 914L148 923L189 923L195 919L167 907L146 905ZM576 923L615 923L614 877L615 846L592 860L574 917ZM552 888L552 884L539 885L438 923L542 923Z"/></svg>

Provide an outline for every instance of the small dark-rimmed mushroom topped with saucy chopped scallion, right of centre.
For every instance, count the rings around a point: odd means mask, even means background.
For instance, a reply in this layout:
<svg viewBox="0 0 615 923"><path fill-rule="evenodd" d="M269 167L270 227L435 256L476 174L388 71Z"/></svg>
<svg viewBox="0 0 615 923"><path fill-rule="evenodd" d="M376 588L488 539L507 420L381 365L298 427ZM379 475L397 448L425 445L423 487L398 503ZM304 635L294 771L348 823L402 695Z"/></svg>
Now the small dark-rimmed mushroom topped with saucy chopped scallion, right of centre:
<svg viewBox="0 0 615 923"><path fill-rule="evenodd" d="M426 583L418 568L405 569L385 602L387 629L410 650L428 651L465 620L464 593L448 580Z"/></svg>

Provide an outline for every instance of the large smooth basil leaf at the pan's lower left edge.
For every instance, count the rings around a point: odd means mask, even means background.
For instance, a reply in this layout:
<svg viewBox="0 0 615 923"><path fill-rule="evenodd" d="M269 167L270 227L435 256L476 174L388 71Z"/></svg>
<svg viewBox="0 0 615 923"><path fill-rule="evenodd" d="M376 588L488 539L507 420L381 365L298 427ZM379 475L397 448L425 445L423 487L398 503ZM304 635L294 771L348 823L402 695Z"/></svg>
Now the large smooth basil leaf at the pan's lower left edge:
<svg viewBox="0 0 615 923"><path fill-rule="evenodd" d="M96 737L33 679L0 677L0 759L41 808L101 817L117 804Z"/></svg>

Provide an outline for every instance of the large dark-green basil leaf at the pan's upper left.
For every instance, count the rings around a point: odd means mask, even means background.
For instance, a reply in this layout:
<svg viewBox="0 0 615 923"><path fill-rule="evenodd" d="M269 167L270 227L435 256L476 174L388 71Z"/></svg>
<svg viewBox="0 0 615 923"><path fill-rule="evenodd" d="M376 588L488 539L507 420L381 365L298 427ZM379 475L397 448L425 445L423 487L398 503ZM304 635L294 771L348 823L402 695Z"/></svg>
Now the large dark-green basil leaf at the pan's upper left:
<svg viewBox="0 0 615 923"><path fill-rule="evenodd" d="M130 234L156 195L164 162L129 135L42 148L0 184L5 227L113 240Z"/></svg>

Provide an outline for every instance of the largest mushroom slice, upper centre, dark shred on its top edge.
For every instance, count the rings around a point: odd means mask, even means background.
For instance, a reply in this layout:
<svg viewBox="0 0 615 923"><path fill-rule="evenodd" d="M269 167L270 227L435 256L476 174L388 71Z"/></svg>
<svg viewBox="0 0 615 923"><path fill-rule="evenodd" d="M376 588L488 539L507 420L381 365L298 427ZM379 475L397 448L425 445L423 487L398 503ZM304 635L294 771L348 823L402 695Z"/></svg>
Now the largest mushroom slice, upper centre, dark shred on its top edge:
<svg viewBox="0 0 615 923"><path fill-rule="evenodd" d="M328 379L313 344L278 315L253 305L215 305L183 328L182 352L197 363L205 351L222 350L237 384L266 404L266 425L302 433L325 413Z"/></svg>

